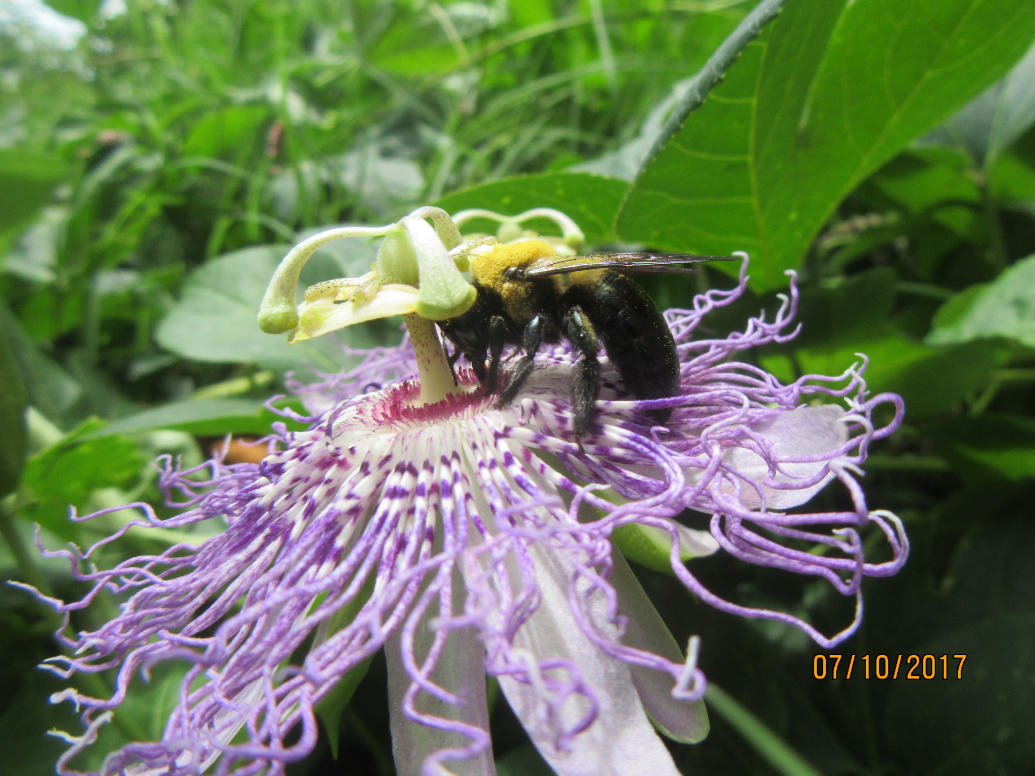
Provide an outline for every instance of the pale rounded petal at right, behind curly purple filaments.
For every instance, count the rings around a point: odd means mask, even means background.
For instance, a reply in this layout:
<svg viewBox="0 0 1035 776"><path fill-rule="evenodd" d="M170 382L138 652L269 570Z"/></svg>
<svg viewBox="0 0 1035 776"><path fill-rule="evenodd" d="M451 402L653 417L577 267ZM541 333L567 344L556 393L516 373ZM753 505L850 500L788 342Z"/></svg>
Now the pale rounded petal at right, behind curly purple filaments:
<svg viewBox="0 0 1035 776"><path fill-rule="evenodd" d="M791 412L782 412L751 427L751 430L769 442L776 451L776 460L789 457L823 455L836 450L848 441L848 429L840 422L844 411L835 405L799 407ZM735 447L723 453L722 458L749 480L762 482L769 474L769 467L758 453L743 447ZM774 482L792 484L808 480L819 474L825 460L804 464L780 462L782 470L773 478ZM787 509L804 504L819 493L833 477L828 474L815 485L801 489L781 489L763 485L767 509ZM729 488L732 490L732 485ZM763 506L758 490L749 483L741 483L740 502L748 509Z"/></svg>

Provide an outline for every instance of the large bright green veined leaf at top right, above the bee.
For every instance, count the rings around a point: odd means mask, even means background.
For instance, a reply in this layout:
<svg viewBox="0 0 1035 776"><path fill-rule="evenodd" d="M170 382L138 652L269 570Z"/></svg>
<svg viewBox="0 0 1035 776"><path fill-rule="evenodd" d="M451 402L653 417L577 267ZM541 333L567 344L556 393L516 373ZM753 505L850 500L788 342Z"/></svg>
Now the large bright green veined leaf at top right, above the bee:
<svg viewBox="0 0 1035 776"><path fill-rule="evenodd" d="M783 13L629 191L623 240L753 256L786 282L838 203L1002 76L1035 37L1028 0L809 0Z"/></svg>

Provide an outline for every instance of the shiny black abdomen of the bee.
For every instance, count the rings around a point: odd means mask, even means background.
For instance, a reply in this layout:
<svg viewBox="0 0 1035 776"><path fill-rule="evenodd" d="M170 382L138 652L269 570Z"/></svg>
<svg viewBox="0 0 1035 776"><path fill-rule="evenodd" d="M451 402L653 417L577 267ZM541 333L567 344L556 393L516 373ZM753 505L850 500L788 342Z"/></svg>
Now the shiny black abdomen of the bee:
<svg viewBox="0 0 1035 776"><path fill-rule="evenodd" d="M605 272L592 288L571 287L562 301L583 308L633 396L664 398L679 393L676 342L657 305L634 281ZM663 423L672 411L650 414Z"/></svg>

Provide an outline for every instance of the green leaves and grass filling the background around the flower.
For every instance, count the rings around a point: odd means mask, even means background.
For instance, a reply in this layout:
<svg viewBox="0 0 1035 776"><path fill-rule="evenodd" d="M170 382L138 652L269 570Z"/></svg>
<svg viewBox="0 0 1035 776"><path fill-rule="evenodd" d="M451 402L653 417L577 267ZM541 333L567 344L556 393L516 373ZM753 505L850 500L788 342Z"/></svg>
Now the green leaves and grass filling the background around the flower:
<svg viewBox="0 0 1035 776"><path fill-rule="evenodd" d="M839 652L966 653L962 681L817 681L801 634L638 568L677 638L703 636L716 685L800 753L783 772L1030 774L1035 5L787 0L684 116L689 79L752 4L53 0L66 16L49 25L28 0L0 4L0 576L75 596L32 549L32 523L51 546L82 544L127 517L72 524L68 505L165 509L156 454L200 461L225 434L261 435L287 372L349 363L329 339L289 349L255 327L286 243L435 201L560 207L598 245L748 250L751 293L709 322L718 333L773 309L796 269L802 334L759 362L791 380L866 353L871 389L907 399L864 485L906 519L913 555L867 585ZM372 258L333 247L314 280ZM699 280L651 291L684 305L731 282ZM179 538L130 532L100 562ZM820 584L723 558L696 568L827 631L848 616ZM59 683L32 670L53 627L0 589L0 751L16 776L52 772L62 745L45 730L78 729L46 703ZM84 689L105 692L95 679ZM99 748L160 735L177 682L142 683ZM712 718L705 743L673 747L686 773L775 772ZM505 704L493 724L502 774L544 772ZM338 727L339 759L322 741L293 772L392 772L377 661Z"/></svg>

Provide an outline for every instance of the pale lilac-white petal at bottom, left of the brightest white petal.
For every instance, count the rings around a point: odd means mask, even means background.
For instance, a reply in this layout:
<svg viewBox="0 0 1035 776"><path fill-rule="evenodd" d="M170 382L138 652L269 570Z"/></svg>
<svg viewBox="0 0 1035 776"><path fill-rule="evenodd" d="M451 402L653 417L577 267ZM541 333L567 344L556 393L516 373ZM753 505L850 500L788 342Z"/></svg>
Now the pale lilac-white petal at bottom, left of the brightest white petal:
<svg viewBox="0 0 1035 776"><path fill-rule="evenodd" d="M431 618L425 616L421 621L414 639L418 660L427 654L432 643L433 634L426 627L428 619ZM388 710L395 772L398 776L420 776L424 758L430 754L440 749L467 747L471 740L461 734L411 722L403 713L403 696L409 689L411 680L403 666L397 630L386 641L385 654L388 658ZM445 651L432 674L432 681L462 697L465 704L452 706L434 695L422 693L416 703L418 711L489 730L485 650L473 629L465 628L450 633ZM445 766L457 776L496 776L491 746L467 759L447 760Z"/></svg>

